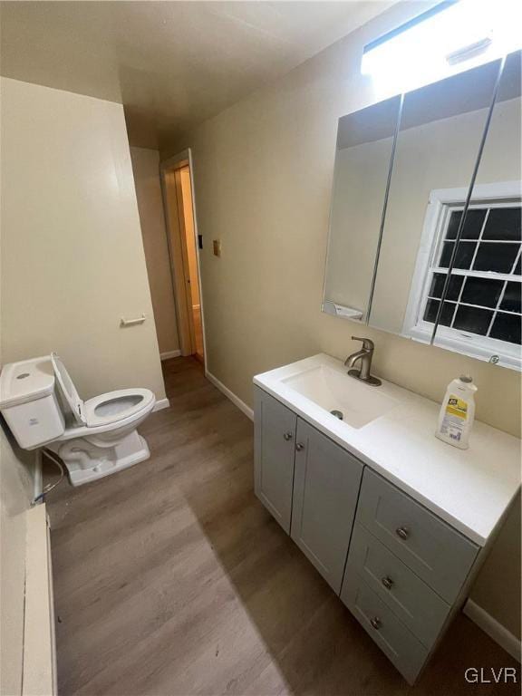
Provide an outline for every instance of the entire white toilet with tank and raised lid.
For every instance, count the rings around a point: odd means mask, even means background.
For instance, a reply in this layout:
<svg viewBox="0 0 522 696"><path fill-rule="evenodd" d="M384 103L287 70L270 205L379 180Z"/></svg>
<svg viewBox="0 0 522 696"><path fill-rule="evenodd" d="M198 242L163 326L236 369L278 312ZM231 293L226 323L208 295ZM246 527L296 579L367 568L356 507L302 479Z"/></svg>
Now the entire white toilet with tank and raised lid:
<svg viewBox="0 0 522 696"><path fill-rule="evenodd" d="M136 430L154 408L149 389L108 391L82 401L58 355L12 362L0 374L0 411L23 449L63 459L73 486L149 459Z"/></svg>

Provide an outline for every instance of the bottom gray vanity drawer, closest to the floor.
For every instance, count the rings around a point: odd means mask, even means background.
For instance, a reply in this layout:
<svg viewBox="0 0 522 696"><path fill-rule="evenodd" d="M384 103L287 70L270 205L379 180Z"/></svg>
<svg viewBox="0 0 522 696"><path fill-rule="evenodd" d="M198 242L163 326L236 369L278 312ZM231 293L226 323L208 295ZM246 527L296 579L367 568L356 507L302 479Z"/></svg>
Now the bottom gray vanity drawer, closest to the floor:
<svg viewBox="0 0 522 696"><path fill-rule="evenodd" d="M417 678L429 651L415 638L359 575L347 575L341 594L362 628L411 684Z"/></svg>

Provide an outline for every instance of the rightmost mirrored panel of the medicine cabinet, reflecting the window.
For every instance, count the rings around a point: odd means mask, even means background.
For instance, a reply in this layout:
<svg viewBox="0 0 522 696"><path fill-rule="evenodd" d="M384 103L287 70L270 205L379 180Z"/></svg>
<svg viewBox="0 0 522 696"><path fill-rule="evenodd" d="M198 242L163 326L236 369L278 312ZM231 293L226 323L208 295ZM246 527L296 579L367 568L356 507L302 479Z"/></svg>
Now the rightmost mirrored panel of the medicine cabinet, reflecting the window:
<svg viewBox="0 0 522 696"><path fill-rule="evenodd" d="M507 56L433 343L520 369L520 53ZM449 227L462 213L451 210ZM449 253L446 252L446 256ZM445 274L435 274L433 286ZM440 303L439 303L440 304Z"/></svg>

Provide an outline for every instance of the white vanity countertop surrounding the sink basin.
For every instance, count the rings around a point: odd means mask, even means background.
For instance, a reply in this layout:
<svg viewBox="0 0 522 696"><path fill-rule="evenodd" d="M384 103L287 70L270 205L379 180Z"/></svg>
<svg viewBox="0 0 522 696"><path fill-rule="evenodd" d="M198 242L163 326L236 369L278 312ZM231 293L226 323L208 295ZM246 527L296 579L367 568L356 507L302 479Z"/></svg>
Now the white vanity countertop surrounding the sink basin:
<svg viewBox="0 0 522 696"><path fill-rule="evenodd" d="M452 447L434 434L439 403L384 381L378 390L397 406L362 428L353 428L282 382L319 365L346 374L342 362L321 353L258 374L254 383L478 546L485 546L520 487L520 440L476 420L469 449Z"/></svg>

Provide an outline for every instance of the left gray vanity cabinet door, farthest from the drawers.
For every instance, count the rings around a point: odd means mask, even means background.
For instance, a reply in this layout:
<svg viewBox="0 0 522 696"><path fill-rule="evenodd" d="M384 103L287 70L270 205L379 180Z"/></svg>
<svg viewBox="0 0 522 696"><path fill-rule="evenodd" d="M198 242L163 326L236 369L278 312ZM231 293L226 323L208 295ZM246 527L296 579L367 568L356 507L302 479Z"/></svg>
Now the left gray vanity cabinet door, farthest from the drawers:
<svg viewBox="0 0 522 696"><path fill-rule="evenodd" d="M257 387L254 407L256 496L289 534L297 417Z"/></svg>

